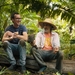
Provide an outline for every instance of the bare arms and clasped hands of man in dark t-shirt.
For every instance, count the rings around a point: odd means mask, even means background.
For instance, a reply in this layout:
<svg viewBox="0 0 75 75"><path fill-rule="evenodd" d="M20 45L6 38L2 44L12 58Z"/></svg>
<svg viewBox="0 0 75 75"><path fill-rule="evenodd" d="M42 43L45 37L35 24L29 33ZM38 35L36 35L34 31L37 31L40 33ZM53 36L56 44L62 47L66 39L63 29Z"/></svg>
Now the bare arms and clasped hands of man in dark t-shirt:
<svg viewBox="0 0 75 75"><path fill-rule="evenodd" d="M27 32L23 32L23 35L19 35L17 32L12 33L10 31L7 31L3 35L2 42L9 41L14 38L23 39L23 40L27 41L28 35L27 35Z"/></svg>

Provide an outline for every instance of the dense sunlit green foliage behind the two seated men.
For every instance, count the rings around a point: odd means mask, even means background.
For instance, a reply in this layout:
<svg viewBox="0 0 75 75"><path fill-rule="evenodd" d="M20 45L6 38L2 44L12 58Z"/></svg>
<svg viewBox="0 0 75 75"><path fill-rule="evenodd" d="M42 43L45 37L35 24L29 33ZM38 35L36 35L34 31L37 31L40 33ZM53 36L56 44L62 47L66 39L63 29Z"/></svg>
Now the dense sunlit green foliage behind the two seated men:
<svg viewBox="0 0 75 75"><path fill-rule="evenodd" d="M4 29L11 24L10 14L17 11L22 16L28 34L36 34L38 21L50 17L58 27L61 50L70 52L70 40L75 39L74 0L0 0L0 40ZM74 49L73 49L74 50ZM75 52L74 52L75 53Z"/></svg>

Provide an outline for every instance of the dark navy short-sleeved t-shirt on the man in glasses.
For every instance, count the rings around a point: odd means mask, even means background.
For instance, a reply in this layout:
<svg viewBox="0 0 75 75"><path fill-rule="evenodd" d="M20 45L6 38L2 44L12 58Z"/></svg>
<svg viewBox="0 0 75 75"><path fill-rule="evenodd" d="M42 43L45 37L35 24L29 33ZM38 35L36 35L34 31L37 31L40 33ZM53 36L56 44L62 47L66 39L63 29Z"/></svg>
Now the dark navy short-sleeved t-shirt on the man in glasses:
<svg viewBox="0 0 75 75"><path fill-rule="evenodd" d="M23 32L27 32L26 27L24 25L19 25L18 28L15 28L13 25L10 25L5 29L5 32L6 31L11 31L13 33L18 32L19 35L23 35ZM19 39L15 38L15 39L10 40L9 42L13 44L18 44Z"/></svg>

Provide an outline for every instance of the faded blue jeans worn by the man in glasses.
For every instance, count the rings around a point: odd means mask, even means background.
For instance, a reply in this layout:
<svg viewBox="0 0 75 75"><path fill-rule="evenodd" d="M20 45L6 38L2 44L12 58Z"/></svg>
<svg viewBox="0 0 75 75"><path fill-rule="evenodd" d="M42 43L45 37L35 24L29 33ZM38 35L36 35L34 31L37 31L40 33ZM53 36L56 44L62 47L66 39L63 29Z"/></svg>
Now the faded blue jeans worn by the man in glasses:
<svg viewBox="0 0 75 75"><path fill-rule="evenodd" d="M26 46L24 40L20 40L18 44L4 41L3 45L12 65L18 63L18 65L24 66L26 64ZM14 56L19 56L19 60L17 62Z"/></svg>

